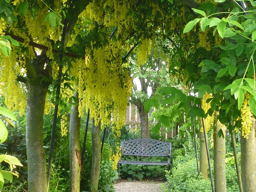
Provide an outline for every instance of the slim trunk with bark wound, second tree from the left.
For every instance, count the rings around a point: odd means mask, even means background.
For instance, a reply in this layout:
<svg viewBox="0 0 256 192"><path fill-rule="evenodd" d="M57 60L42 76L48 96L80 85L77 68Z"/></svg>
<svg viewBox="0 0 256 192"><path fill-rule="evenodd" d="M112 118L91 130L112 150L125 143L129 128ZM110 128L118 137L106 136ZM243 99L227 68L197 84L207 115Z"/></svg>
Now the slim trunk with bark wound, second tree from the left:
<svg viewBox="0 0 256 192"><path fill-rule="evenodd" d="M75 92L74 97L78 100L78 95ZM78 106L72 105L73 114L70 114L69 122L69 192L80 192L80 117L78 117Z"/></svg>

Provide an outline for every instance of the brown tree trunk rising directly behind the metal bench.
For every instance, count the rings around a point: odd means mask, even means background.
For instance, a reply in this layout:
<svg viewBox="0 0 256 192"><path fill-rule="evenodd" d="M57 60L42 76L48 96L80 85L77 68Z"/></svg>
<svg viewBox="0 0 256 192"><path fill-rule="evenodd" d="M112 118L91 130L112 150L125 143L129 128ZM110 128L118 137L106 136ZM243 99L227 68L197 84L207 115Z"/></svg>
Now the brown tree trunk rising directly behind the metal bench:
<svg viewBox="0 0 256 192"><path fill-rule="evenodd" d="M149 138L149 126L148 126L148 113L145 112L144 106L136 105L138 112L140 114L140 138L148 139Z"/></svg>

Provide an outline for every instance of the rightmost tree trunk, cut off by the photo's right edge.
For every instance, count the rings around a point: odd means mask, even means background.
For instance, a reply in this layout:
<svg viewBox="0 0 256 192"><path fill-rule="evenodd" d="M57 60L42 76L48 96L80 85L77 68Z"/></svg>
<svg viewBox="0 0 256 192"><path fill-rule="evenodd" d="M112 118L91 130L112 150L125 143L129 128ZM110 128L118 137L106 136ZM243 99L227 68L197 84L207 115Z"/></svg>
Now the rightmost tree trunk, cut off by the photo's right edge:
<svg viewBox="0 0 256 192"><path fill-rule="evenodd" d="M243 189L246 192L255 192L256 190L256 122L252 120L251 132L248 139L241 136L241 172Z"/></svg>

